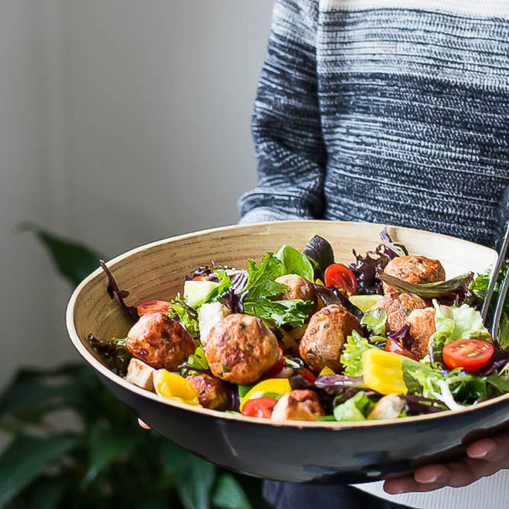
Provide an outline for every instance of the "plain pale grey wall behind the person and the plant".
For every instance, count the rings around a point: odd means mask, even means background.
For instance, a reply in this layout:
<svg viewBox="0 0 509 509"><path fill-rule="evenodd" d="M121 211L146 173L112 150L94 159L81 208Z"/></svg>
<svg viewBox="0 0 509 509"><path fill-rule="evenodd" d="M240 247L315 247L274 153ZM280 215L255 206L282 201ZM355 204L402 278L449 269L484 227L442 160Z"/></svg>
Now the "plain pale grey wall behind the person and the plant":
<svg viewBox="0 0 509 509"><path fill-rule="evenodd" d="M0 0L0 385L74 356L69 289L13 226L107 256L238 220L273 0Z"/></svg>

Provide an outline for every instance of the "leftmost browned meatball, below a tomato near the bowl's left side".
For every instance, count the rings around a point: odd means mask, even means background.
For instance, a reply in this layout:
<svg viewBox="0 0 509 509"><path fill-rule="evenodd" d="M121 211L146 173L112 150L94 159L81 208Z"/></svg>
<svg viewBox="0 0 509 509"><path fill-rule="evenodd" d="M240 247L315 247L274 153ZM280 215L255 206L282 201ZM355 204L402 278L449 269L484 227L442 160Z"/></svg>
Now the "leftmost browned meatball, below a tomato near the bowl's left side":
<svg viewBox="0 0 509 509"><path fill-rule="evenodd" d="M127 350L156 370L175 371L194 352L193 338L164 313L147 313L127 333Z"/></svg>

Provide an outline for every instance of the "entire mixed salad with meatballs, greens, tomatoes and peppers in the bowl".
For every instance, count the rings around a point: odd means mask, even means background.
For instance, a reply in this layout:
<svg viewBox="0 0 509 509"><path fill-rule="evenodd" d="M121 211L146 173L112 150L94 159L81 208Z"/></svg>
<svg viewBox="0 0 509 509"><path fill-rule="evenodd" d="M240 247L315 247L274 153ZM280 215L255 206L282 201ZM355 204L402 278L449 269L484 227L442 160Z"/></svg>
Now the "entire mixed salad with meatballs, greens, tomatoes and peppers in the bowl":
<svg viewBox="0 0 509 509"><path fill-rule="evenodd" d="M182 294L136 306L101 262L133 326L89 342L163 398L278 421L403 418L509 392L509 302L495 341L479 313L489 271L446 280L380 235L348 266L315 236L247 269L198 267Z"/></svg>

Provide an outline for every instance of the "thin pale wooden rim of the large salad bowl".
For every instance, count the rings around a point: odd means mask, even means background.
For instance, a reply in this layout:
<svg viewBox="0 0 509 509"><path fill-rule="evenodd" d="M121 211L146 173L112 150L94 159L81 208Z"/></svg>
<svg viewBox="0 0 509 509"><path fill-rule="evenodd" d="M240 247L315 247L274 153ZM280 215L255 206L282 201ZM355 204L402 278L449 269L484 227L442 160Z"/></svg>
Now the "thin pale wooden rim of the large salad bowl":
<svg viewBox="0 0 509 509"><path fill-rule="evenodd" d="M309 223L317 223L317 224L323 224L323 223L342 223L342 224L352 224L352 225L358 225L359 222L362 222L363 224L372 224L379 226L383 228L385 225L380 223L369 223L365 221L328 221L328 220L321 220L321 219L292 219L292 220L284 220L284 221L264 221L264 222L258 222L258 223L250 223L250 224L233 224L228 225L225 227L216 227L216 228L209 228L206 230L199 230L195 232L185 233L182 235L176 235L173 237L168 237L160 240L156 240L154 242L149 242L147 244L143 244L137 247L134 247L124 253L119 254L118 256L108 260L106 264L108 267L110 265L116 265L117 263L123 261L126 258L129 258L133 256L136 253L145 251L148 248L156 247L159 245L176 242L180 240L185 240L191 237L195 237L197 235L207 235L219 231L232 231L232 230L239 230L239 229L250 229L250 228L260 228L267 225L273 225L275 223L302 223L308 225ZM472 244L476 247L482 247L483 249L487 249L490 251L493 251L496 253L494 249L491 249L486 246L482 246L480 244L476 244L474 242L470 242L463 239L458 239L456 237L451 237L449 235L443 235L443 234L437 234L434 232L429 232L426 230L417 230L414 228L407 228L407 227L401 227L399 225L390 224L390 227L403 229L409 232L415 232L415 233L426 233L431 234L434 236L439 236L445 239L454 239L454 240L461 240L462 242ZM179 401L163 398L156 394L155 392L148 391L146 389L143 389L141 387L138 387L137 385L128 382L124 378L122 378L120 375L117 375L116 373L109 370L105 365L103 365L92 353L84 346L83 342L80 340L78 333L75 328L74 324L74 309L76 300L78 298L78 295L81 293L84 287L86 287L90 281L95 279L98 275L102 274L103 271L99 267L94 272L89 274L86 278L84 278L80 284L76 287L74 292L72 293L71 297L69 298L69 302L67 304L66 308L66 327L67 332L70 337L71 343L76 349L76 351L79 353L79 355L83 358L84 361L86 361L89 365L93 367L93 369L98 372L101 376L109 379L111 382L120 385L122 388L127 389L128 391L131 391L135 393L138 396L141 396L143 398L148 398L156 403L160 403L163 405L168 405L170 407L176 407L180 408L182 410L191 411L197 414L206 415L209 417L214 417L217 419L226 419L226 420L234 420L239 422L250 422L250 423L256 423L257 425L262 426L270 426L270 427L277 427L277 428L310 428L310 429L327 429L327 430L346 430L346 429L362 429L365 427L381 427L386 425L404 425L405 423L410 422L421 422L421 421L434 421L437 419L443 419L446 417L455 416L458 414L465 414L470 413L473 411L476 411L481 408L486 408L488 406L496 405L497 403L501 403L504 401L509 401L509 393L502 394L500 396L497 396L496 398L492 398L490 400L477 403L475 405L469 405L465 406L465 408L462 408L460 410L445 410L443 412L437 412L434 414L427 414L427 415L415 415L410 417L405 417L404 419L373 419L373 420L363 420L363 421L347 421L347 422L341 422L341 421L298 421L298 420L287 420L287 421L271 421L270 419L260 419L258 417L248 417L241 414L230 414L221 412L219 410L211 410L208 408L203 408L195 405L188 405L186 403L181 403Z"/></svg>

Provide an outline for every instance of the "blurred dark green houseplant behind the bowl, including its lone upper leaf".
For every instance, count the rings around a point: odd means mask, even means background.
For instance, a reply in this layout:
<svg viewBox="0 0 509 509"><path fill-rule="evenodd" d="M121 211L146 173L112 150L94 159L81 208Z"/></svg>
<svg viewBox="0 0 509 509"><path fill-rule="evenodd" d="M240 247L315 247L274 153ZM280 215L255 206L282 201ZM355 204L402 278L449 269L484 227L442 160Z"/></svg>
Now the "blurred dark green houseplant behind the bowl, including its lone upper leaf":
<svg viewBox="0 0 509 509"><path fill-rule="evenodd" d="M99 254L33 224L76 286ZM72 431L62 431L62 421ZM268 508L260 479L198 458L138 426L136 415L81 364L21 369L0 395L0 507L6 509Z"/></svg>

